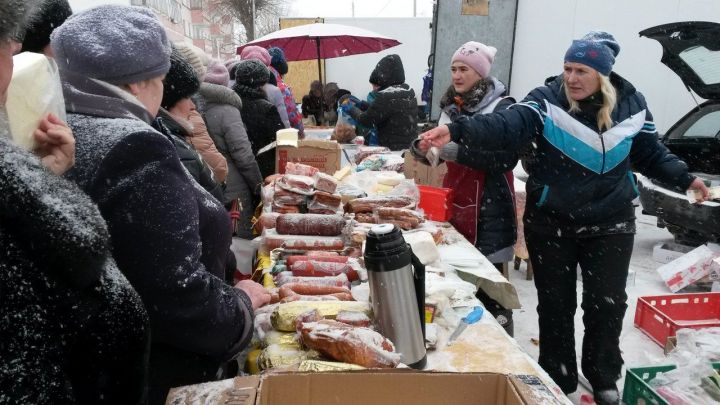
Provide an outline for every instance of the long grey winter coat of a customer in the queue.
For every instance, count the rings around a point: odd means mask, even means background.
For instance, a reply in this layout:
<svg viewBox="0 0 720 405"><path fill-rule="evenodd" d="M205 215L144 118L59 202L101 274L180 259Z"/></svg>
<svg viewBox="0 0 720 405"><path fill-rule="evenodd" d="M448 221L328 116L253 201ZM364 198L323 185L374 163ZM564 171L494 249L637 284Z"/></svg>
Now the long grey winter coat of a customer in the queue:
<svg viewBox="0 0 720 405"><path fill-rule="evenodd" d="M229 163L223 202L228 204L240 199L243 208L240 228L245 232L238 236L249 238L252 236L250 221L263 178L240 115L242 101L231 89L212 83L200 86L200 96L204 100L202 114L208 131Z"/></svg>

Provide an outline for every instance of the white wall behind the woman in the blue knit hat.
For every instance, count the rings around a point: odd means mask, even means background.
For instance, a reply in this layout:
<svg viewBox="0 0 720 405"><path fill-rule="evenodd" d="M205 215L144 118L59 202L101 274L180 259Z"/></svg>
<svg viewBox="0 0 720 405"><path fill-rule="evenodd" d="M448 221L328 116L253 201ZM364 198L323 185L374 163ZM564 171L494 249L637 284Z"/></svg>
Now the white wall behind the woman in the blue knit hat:
<svg viewBox="0 0 720 405"><path fill-rule="evenodd" d="M621 46L614 71L645 95L662 133L695 102L680 78L660 62L660 44L640 38L638 32L691 20L720 21L720 1L520 0L511 95L521 100L547 77L562 73L565 51L572 39L591 30L608 31Z"/></svg>

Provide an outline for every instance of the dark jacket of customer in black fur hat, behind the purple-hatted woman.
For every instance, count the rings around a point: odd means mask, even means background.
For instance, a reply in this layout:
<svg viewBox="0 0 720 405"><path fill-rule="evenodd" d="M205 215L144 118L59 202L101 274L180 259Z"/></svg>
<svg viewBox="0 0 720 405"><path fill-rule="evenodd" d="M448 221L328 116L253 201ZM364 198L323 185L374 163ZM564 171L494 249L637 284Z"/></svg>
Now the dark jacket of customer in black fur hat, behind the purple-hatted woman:
<svg viewBox="0 0 720 405"><path fill-rule="evenodd" d="M167 136L170 142L173 143L180 158L180 163L185 166L190 176L218 201L222 201L222 187L213 178L210 167L203 161L197 151L189 143L185 142L185 137L190 133L190 129L162 108L158 116L153 120L152 127Z"/></svg>

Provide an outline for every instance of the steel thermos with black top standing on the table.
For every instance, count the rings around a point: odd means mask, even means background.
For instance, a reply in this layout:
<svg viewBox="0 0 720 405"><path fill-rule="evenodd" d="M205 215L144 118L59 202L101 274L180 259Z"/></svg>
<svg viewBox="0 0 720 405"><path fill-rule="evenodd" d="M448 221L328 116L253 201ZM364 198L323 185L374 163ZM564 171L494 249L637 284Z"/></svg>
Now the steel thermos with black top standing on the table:
<svg viewBox="0 0 720 405"><path fill-rule="evenodd" d="M364 259L379 332L395 344L403 363L425 368L425 267L393 224L370 229Z"/></svg>

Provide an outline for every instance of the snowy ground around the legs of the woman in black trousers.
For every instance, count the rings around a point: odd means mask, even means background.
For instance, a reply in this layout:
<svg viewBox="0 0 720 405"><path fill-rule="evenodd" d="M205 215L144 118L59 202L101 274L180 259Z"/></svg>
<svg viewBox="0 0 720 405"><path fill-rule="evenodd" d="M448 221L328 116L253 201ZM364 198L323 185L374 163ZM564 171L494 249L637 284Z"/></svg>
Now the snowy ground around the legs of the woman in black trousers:
<svg viewBox="0 0 720 405"><path fill-rule="evenodd" d="M623 322L623 331L620 336L620 347L623 351L626 367L638 367L663 363L663 349L650 340L639 329L633 326L637 298L646 295L670 294L670 290L655 271L659 263L652 259L652 249L658 243L671 242L672 235L665 229L655 226L656 219L643 215L640 207L637 208L637 235L635 235L635 249L630 262L630 277L628 278L627 294L628 309ZM525 264L520 271L510 270L510 281L515 285L523 308L514 311L515 339L530 356L537 360L537 294L535 285L531 280L525 280ZM633 276L634 275L634 276ZM582 301L582 285L577 283L578 303ZM582 324L583 311L578 305L575 314L575 344L580 364L580 348L584 327ZM618 388L622 391L625 381L623 377L618 381ZM578 391L569 395L573 403L579 403L580 395L589 392L588 388L579 386Z"/></svg>

